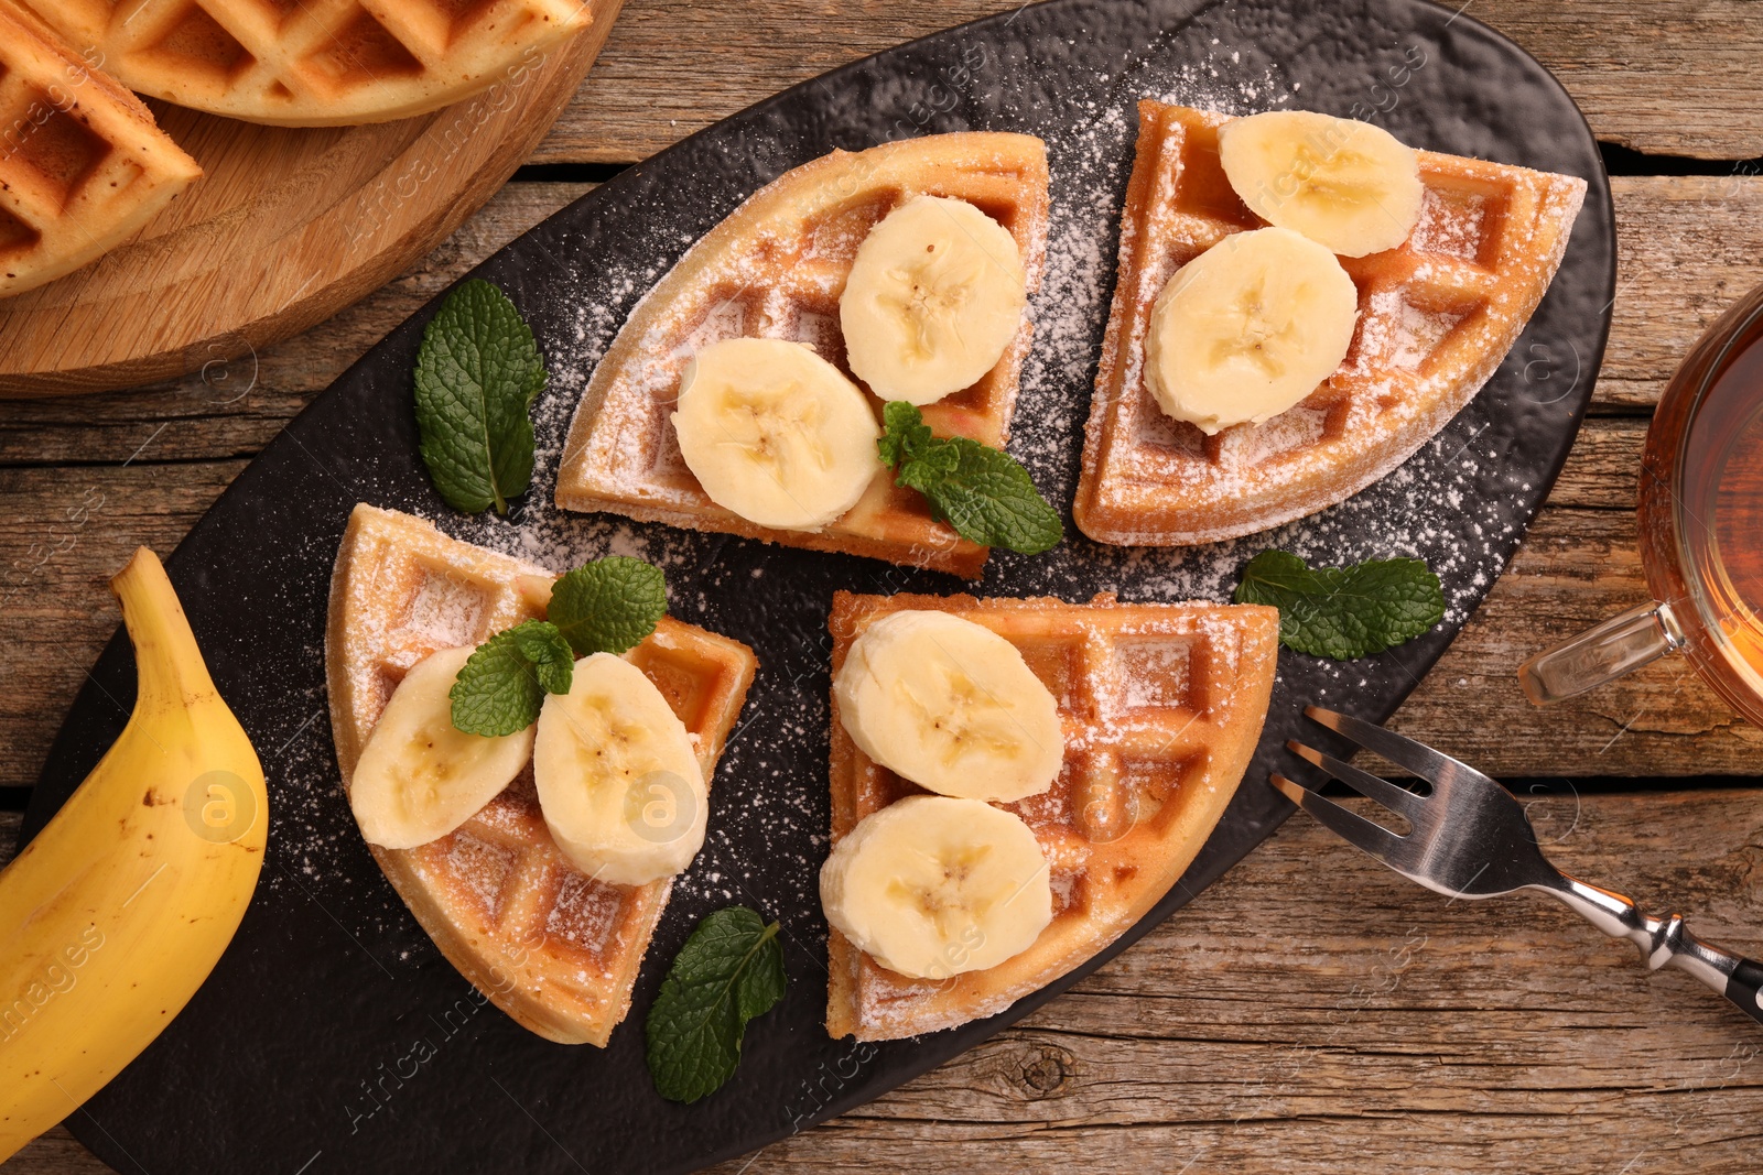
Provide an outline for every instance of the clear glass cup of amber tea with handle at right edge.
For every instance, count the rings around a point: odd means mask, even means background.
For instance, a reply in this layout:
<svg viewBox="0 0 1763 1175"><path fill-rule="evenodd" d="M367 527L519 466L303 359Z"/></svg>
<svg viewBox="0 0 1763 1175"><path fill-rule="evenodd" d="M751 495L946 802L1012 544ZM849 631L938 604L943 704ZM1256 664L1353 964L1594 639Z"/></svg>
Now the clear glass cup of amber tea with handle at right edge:
<svg viewBox="0 0 1763 1175"><path fill-rule="evenodd" d="M1654 602L1518 668L1536 705L1670 652L1763 726L1763 287L1678 366L1641 458L1640 553Z"/></svg>

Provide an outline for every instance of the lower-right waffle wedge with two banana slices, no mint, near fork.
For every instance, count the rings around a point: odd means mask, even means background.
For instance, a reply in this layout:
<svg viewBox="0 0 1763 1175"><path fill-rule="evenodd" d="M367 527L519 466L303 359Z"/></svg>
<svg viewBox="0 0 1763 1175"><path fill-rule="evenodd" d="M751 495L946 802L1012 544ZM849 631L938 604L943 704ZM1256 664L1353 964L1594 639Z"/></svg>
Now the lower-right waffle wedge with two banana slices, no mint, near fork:
<svg viewBox="0 0 1763 1175"><path fill-rule="evenodd" d="M1278 627L1259 606L837 592L827 1032L994 1015L1142 918L1236 793Z"/></svg>

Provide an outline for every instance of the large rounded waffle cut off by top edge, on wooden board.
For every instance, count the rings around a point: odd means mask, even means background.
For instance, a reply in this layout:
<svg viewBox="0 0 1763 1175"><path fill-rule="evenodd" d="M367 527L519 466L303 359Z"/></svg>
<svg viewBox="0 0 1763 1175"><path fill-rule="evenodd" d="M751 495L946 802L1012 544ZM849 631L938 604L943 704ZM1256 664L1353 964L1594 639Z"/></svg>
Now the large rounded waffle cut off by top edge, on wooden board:
<svg viewBox="0 0 1763 1175"><path fill-rule="evenodd" d="M155 99L284 127L407 118L513 81L580 0L28 0Z"/></svg>

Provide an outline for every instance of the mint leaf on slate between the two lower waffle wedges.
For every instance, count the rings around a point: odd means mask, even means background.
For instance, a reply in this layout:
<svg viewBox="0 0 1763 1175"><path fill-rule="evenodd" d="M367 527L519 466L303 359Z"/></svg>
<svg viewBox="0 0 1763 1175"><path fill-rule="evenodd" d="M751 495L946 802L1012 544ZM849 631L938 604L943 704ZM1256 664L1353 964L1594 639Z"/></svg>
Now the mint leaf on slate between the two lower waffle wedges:
<svg viewBox="0 0 1763 1175"><path fill-rule="evenodd" d="M649 1075L668 1101L714 1094L740 1064L748 1022L783 999L777 923L730 905L698 923L649 1009Z"/></svg>

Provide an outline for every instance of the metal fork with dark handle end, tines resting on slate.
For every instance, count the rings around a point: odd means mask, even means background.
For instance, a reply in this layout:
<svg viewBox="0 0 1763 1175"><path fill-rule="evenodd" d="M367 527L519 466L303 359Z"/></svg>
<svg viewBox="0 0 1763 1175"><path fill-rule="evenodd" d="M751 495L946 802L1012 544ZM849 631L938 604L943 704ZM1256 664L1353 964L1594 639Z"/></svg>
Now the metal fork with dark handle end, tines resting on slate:
<svg viewBox="0 0 1763 1175"><path fill-rule="evenodd" d="M1423 796L1331 754L1287 742L1291 750L1410 824L1407 835L1398 835L1273 773L1273 786L1287 800L1350 844L1409 881L1449 897L1491 898L1539 890L1560 898L1604 934L1634 942L1648 969L1673 965L1687 971L1738 1004L1752 1020L1763 1022L1763 964L1698 939L1678 914L1650 918L1620 893L1587 884L1550 865L1537 847L1530 817L1506 787L1467 763L1382 726L1320 706L1306 706L1305 713L1432 784L1432 794Z"/></svg>

